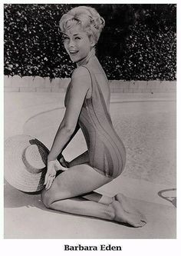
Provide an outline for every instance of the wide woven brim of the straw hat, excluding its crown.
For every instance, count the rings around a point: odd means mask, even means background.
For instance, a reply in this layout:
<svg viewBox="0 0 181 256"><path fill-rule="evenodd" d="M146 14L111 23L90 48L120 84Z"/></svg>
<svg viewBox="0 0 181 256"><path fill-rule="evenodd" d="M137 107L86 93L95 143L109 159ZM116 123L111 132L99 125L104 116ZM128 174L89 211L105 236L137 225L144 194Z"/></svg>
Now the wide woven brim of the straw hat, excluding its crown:
<svg viewBox="0 0 181 256"><path fill-rule="evenodd" d="M23 161L25 148L31 145L41 147L44 156L48 156L48 148L29 135L15 135L5 141L5 180L18 190L25 192L41 191L44 188L46 165L38 172L31 172ZM41 157L41 154L40 154ZM44 164L47 159L42 159Z"/></svg>

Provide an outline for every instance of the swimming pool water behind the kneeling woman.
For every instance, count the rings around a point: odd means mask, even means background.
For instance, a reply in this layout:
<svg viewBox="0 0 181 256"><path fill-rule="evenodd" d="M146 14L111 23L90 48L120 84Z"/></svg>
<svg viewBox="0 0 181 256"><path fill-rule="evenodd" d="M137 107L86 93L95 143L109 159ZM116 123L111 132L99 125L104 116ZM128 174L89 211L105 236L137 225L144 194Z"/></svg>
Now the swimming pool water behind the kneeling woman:
<svg viewBox="0 0 181 256"><path fill-rule="evenodd" d="M64 110L55 108L28 119L24 133L51 148ZM122 175L176 185L176 101L115 101L110 104L110 115L127 150ZM84 137L78 131L64 150L65 158L71 160L86 149Z"/></svg>

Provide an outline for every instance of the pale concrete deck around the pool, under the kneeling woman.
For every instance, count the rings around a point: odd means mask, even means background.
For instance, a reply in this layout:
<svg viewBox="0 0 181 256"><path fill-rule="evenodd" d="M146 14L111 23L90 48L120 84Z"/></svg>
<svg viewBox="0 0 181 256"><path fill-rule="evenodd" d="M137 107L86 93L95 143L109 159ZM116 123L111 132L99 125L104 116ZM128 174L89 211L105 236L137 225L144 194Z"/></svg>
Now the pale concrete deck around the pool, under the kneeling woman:
<svg viewBox="0 0 181 256"><path fill-rule="evenodd" d="M111 94L111 102L176 101L171 93ZM38 114L63 108L61 93L5 93L5 139L24 133L25 122ZM40 127L41 129L41 127ZM130 189L131 188L131 189ZM176 238L176 207L173 187L120 175L97 191L122 192L146 214L143 228L64 214L44 208L40 195L25 194L5 181L5 238ZM158 195L169 191L170 200Z"/></svg>

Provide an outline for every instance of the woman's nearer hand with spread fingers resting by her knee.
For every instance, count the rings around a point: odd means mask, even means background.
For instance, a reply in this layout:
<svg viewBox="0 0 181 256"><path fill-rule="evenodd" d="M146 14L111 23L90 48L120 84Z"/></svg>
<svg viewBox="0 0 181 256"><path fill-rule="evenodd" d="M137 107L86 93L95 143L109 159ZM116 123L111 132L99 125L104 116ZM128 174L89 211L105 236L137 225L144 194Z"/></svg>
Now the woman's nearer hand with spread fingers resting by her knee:
<svg viewBox="0 0 181 256"><path fill-rule="evenodd" d="M46 185L45 186L46 190L51 188L54 178L56 177L56 173L59 170L66 171L67 168L64 168L64 166L62 166L57 159L48 161L47 173L44 178L44 185Z"/></svg>

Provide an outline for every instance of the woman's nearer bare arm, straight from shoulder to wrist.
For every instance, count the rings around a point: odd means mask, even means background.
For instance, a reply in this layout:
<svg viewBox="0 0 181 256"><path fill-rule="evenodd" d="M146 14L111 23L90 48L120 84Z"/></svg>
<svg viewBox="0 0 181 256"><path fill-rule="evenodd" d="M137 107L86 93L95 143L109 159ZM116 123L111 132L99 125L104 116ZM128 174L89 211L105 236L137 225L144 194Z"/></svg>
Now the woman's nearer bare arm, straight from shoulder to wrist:
<svg viewBox="0 0 181 256"><path fill-rule="evenodd" d="M91 77L87 69L84 67L76 68L71 78L71 87L68 92L68 102L64 118L55 135L51 151L48 155L48 161L55 160L61 154L64 146L67 145L67 141L70 141L74 134L84 98L89 88L91 88Z"/></svg>

